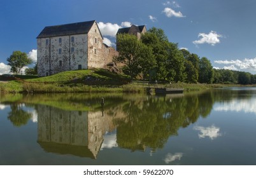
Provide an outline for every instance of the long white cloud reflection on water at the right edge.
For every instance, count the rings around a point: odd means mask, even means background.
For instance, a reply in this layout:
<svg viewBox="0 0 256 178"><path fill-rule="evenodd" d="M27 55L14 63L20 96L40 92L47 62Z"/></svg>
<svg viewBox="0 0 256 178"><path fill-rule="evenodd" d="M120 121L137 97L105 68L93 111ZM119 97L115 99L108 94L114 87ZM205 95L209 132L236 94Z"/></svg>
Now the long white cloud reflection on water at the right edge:
<svg viewBox="0 0 256 178"><path fill-rule="evenodd" d="M215 111L236 111L256 114L256 99L232 99L229 102L215 104Z"/></svg>

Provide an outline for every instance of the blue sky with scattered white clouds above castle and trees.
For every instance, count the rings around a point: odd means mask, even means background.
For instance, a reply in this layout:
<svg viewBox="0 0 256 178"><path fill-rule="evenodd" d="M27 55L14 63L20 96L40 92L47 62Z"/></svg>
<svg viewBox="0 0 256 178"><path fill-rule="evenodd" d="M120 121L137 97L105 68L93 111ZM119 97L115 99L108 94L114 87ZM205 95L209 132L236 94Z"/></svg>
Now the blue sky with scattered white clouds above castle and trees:
<svg viewBox="0 0 256 178"><path fill-rule="evenodd" d="M0 74L10 72L6 59L13 51L36 62L36 37L44 27L90 20L113 47L118 28L157 27L217 69L256 74L255 9L255 0L1 0Z"/></svg>

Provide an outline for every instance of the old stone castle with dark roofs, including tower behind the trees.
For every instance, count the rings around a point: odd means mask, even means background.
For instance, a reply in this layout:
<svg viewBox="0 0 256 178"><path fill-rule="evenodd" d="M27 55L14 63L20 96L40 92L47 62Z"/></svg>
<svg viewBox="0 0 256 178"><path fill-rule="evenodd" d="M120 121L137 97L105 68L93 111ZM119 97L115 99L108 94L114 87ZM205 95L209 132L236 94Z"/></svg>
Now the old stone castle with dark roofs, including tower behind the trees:
<svg viewBox="0 0 256 178"><path fill-rule="evenodd" d="M140 38L145 25L131 25L117 34L129 33ZM38 76L62 71L104 68L118 52L103 43L96 20L48 26L37 37ZM118 46L117 46L118 49Z"/></svg>

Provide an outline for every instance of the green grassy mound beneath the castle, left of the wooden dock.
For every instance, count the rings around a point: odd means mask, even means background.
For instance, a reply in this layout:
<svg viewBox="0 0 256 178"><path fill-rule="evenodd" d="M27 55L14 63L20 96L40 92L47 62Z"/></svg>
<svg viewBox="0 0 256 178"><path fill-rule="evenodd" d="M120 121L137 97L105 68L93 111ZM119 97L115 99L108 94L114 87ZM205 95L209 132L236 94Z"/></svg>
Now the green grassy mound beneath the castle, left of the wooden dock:
<svg viewBox="0 0 256 178"><path fill-rule="evenodd" d="M104 69L66 71L38 78L36 76L1 76L1 92L123 92L129 76ZM127 87L126 87L127 88Z"/></svg>

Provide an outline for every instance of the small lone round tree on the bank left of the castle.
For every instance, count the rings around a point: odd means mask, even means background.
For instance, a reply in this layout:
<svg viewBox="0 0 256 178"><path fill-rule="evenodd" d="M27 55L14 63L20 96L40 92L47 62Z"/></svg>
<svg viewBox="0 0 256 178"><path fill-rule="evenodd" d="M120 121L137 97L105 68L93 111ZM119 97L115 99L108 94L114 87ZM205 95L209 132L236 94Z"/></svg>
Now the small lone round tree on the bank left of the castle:
<svg viewBox="0 0 256 178"><path fill-rule="evenodd" d="M12 55L7 58L8 65L11 65L11 72L20 74L22 67L32 63L31 58L21 51L13 51Z"/></svg>

